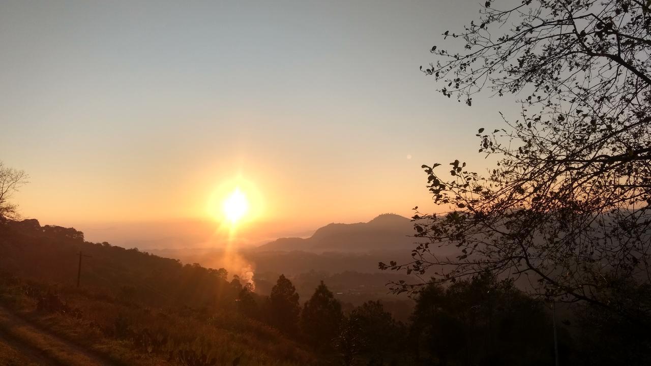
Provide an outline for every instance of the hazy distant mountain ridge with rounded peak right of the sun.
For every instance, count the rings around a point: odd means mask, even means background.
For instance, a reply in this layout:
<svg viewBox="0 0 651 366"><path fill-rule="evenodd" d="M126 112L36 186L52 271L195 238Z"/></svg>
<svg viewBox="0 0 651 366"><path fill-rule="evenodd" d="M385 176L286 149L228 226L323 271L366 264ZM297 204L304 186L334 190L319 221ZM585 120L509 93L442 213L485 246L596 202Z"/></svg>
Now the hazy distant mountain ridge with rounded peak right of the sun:
<svg viewBox="0 0 651 366"><path fill-rule="evenodd" d="M367 223L330 223L309 238L279 238L258 247L264 251L409 250L416 238L411 219L381 214Z"/></svg>

